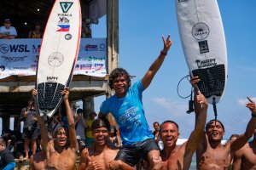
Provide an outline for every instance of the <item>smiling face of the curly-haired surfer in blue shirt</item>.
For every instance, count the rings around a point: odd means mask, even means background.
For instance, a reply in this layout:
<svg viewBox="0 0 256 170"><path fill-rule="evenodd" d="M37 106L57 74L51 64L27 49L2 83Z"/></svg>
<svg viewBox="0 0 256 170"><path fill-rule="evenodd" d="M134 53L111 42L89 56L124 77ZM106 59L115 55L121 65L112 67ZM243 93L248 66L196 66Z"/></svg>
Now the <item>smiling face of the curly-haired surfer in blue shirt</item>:
<svg viewBox="0 0 256 170"><path fill-rule="evenodd" d="M128 82L126 76L117 77L113 80L113 90L119 98L125 97L128 89Z"/></svg>

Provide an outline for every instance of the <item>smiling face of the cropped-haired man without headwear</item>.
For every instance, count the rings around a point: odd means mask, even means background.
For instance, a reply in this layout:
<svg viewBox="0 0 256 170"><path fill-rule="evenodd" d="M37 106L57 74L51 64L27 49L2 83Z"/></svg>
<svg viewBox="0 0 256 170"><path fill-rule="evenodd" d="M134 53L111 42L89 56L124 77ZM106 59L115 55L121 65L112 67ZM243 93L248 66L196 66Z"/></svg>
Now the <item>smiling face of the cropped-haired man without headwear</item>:
<svg viewBox="0 0 256 170"><path fill-rule="evenodd" d="M179 136L177 126L172 122L166 122L160 127L160 138L163 141L165 148L176 145Z"/></svg>

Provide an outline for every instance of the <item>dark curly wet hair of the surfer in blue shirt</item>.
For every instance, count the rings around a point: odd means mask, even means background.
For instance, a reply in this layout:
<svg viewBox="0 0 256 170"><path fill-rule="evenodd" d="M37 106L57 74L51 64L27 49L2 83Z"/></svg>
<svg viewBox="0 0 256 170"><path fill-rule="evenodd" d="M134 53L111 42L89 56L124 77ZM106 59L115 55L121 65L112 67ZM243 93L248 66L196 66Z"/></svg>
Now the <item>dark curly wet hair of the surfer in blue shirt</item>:
<svg viewBox="0 0 256 170"><path fill-rule="evenodd" d="M131 77L130 77L129 73L127 71L125 71L125 69L123 69L123 68L115 68L115 69L113 69L113 71L111 71L110 76L109 76L109 81L108 81L108 85L111 89L113 89L114 79L116 79L118 77L125 77L128 87L131 87Z"/></svg>

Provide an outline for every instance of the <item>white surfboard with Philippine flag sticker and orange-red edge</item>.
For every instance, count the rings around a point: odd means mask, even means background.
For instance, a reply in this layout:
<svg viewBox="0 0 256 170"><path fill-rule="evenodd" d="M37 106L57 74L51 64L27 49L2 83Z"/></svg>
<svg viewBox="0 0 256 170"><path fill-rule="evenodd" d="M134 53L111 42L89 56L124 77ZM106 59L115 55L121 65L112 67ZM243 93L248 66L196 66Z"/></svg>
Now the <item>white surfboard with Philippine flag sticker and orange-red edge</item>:
<svg viewBox="0 0 256 170"><path fill-rule="evenodd" d="M52 116L61 105L61 91L69 86L79 54L79 0L55 0L44 30L37 71L40 114Z"/></svg>

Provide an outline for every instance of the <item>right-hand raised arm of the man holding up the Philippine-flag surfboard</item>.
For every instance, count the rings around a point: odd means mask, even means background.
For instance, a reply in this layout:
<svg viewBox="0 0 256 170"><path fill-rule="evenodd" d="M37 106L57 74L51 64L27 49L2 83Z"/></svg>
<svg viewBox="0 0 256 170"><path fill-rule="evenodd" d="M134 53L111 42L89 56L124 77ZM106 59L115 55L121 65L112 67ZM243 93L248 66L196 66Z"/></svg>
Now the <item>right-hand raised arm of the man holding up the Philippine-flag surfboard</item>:
<svg viewBox="0 0 256 170"><path fill-rule="evenodd" d="M69 105L69 91L68 88L64 88L64 90L61 92L61 94L64 96L64 104L66 106L67 111L67 122L68 122L68 133L70 138L70 147L74 150L78 150L78 143L76 138L76 130L75 130L75 123L73 119L73 114Z"/></svg>

